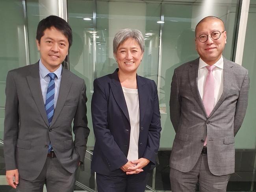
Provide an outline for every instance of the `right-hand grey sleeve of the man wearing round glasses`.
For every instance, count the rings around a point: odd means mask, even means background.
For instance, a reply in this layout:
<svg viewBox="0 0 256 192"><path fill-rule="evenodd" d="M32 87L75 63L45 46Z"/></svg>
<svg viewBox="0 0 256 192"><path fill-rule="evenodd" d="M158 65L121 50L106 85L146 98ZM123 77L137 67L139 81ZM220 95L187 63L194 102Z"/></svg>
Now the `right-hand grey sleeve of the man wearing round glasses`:
<svg viewBox="0 0 256 192"><path fill-rule="evenodd" d="M240 89L239 98L237 99L236 102L236 112L234 117L234 135L237 134L238 130L240 129L243 123L243 119L245 118L245 112L248 104L249 83L250 79L247 70L245 78L243 80L243 84Z"/></svg>

